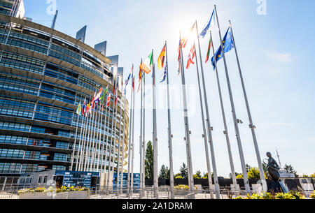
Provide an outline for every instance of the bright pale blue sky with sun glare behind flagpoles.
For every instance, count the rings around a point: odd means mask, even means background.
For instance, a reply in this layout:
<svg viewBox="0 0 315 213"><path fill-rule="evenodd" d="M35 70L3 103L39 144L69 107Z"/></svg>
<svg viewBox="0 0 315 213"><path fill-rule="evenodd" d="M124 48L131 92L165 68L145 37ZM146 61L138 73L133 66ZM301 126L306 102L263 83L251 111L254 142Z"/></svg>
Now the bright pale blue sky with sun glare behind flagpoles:
<svg viewBox="0 0 315 213"><path fill-rule="evenodd" d="M249 103L260 147L260 155L266 152L276 157L276 148L281 163L293 164L299 174L315 172L315 102L314 102L314 1L266 0L267 14L258 15L256 0L246 1L104 1L104 0L57 0L56 29L75 36L85 24L85 43L94 44L108 41L107 55L119 54L120 66L128 75L132 64L138 71L141 58L155 50L158 54L167 41L169 52L169 77L172 84L172 128L174 134L174 170L179 172L181 163L186 162L186 148L183 142L184 125L181 110L181 78L177 77L177 47L179 31L189 29L197 20L201 30L211 15L214 4L218 8L221 30L228 29L232 21L235 42L239 52L241 68L248 93ZM52 15L48 15L46 1L25 0L26 16L34 22L50 27ZM217 48L218 31L213 29L214 45ZM223 32L223 33L224 33ZM206 57L209 34L201 40L203 61ZM185 50L188 58L190 44ZM237 117L244 124L239 126L245 161L257 166L255 149L248 128L248 117L241 91L235 52L227 54L228 69L235 98ZM199 57L198 57L198 62ZM228 150L223 135L223 121L216 85L216 75L210 64L204 64L207 93L209 98L211 126L214 126L214 149L218 175L228 177L230 164ZM232 123L228 87L226 85L223 61L218 62L223 101L228 120L228 131L232 144L232 154L237 172L241 172L239 152ZM157 71L160 79L162 71ZM126 78L127 76L125 76ZM186 71L188 84L188 105L193 170L207 172L202 124L195 66ZM151 75L146 78L151 81ZM136 87L138 85L136 84ZM165 100L163 84L158 85L158 103ZM150 87L150 86L148 86ZM130 90L130 89L129 89ZM127 93L129 98L129 92ZM139 94L136 97L139 103ZM152 114L150 109L151 90L147 90L148 110L146 110L146 140L152 138ZM135 119L135 171L139 171L139 105ZM167 146L167 110L158 109L159 168L162 163L169 165ZM211 166L212 168L212 166Z"/></svg>

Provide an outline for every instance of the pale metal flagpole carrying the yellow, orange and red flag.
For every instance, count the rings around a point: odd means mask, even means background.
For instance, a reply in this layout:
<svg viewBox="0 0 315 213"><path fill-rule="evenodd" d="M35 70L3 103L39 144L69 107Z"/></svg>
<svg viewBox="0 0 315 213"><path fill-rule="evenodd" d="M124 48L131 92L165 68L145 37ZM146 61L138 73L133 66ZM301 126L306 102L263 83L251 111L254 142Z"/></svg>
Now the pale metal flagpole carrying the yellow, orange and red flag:
<svg viewBox="0 0 315 213"><path fill-rule="evenodd" d="M167 67L167 117L169 124L169 182L171 187L171 199L174 199L174 170L173 170L173 145L172 145L172 124L171 124L171 106L169 103L169 61L167 58L167 41L165 41L166 67Z"/></svg>

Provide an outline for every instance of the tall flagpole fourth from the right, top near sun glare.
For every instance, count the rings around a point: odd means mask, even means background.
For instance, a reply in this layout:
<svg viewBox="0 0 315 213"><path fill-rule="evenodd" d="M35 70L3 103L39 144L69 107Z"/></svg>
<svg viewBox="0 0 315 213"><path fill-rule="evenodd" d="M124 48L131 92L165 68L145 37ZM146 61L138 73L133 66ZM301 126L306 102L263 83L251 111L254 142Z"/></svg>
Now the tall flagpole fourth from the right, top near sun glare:
<svg viewBox="0 0 315 213"><path fill-rule="evenodd" d="M215 187L215 191L216 191L216 198L220 199L220 186L218 184L218 171L216 170L216 157L214 154L214 140L212 138L213 128L211 127L211 121L210 121L210 116L209 116L206 83L204 82L204 66L202 65L202 53L201 53L201 48L200 48L200 38L199 38L197 21L196 21L196 32L197 32L198 47L199 47L200 68L201 68L201 73L202 73L202 85L204 87L204 105L206 107L207 127L208 127L207 130L208 130L208 136L209 136L209 145L210 145L210 151L211 151L212 167L214 168L214 187ZM209 175L211 175L211 174L208 174L208 176Z"/></svg>

